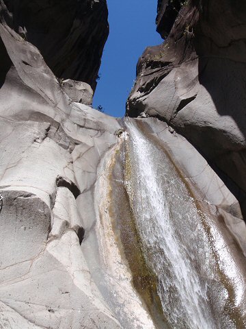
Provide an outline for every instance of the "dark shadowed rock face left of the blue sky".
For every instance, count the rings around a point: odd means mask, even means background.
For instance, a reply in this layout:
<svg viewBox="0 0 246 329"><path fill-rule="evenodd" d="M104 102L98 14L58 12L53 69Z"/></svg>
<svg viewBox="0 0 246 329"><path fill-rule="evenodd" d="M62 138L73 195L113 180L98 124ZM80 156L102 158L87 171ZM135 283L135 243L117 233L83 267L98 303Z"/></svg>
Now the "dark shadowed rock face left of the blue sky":
<svg viewBox="0 0 246 329"><path fill-rule="evenodd" d="M53 73L96 88L109 34L106 0L1 1L1 19L38 47Z"/></svg>

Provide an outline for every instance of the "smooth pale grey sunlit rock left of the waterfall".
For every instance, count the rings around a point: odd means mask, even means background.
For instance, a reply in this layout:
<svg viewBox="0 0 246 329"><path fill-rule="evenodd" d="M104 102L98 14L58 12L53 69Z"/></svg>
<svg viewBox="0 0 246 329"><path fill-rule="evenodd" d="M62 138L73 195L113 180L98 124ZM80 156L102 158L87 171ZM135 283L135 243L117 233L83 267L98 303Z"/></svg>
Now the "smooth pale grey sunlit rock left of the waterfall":
<svg viewBox="0 0 246 329"><path fill-rule="evenodd" d="M0 24L0 34L10 62L0 89L0 324L124 328L115 309L126 301L113 306L108 297L120 258L107 274L100 270L108 249L98 244L106 232L95 228L100 219L94 207L98 167L122 127L73 102L38 49L8 25ZM142 318L153 328L126 265L122 268L115 278L116 286L122 282L128 289L122 314L135 328ZM124 289L120 293L126 295Z"/></svg>

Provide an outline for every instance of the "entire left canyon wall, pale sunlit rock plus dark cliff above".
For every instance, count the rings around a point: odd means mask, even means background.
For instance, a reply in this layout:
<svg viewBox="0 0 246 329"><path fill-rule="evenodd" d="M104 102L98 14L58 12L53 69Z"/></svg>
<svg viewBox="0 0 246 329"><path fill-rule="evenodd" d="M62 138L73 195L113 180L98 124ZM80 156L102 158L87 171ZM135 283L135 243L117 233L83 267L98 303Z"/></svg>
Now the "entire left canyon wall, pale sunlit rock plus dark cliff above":
<svg viewBox="0 0 246 329"><path fill-rule="evenodd" d="M79 103L96 86L107 7L73 2L1 1L1 328L120 328L80 247L120 127Z"/></svg>

